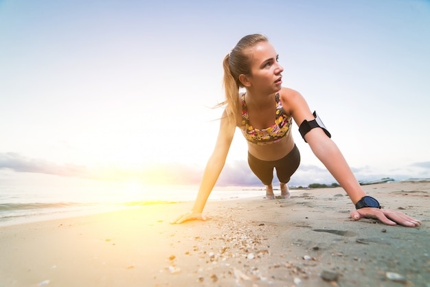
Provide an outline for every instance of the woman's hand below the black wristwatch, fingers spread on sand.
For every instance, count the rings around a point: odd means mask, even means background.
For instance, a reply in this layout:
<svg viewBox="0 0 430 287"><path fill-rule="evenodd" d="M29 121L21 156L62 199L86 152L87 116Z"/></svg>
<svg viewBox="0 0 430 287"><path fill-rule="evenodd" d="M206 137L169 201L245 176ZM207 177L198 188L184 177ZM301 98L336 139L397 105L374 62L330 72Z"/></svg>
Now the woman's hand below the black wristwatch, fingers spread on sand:
<svg viewBox="0 0 430 287"><path fill-rule="evenodd" d="M378 209L374 207L363 207L351 211L350 216L354 220L360 218L375 218L381 220L385 225L403 225L406 227L417 227L421 225L421 221L400 211L392 209Z"/></svg>

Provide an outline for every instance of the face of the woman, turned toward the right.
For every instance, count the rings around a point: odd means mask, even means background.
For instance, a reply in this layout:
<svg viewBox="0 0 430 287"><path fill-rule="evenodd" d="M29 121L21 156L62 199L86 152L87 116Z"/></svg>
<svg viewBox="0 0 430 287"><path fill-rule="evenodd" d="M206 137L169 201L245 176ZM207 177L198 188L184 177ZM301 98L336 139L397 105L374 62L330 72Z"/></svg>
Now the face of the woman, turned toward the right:
<svg viewBox="0 0 430 287"><path fill-rule="evenodd" d="M282 71L278 63L278 53L269 42L260 42L250 49L251 87L262 93L275 93L282 87Z"/></svg>

